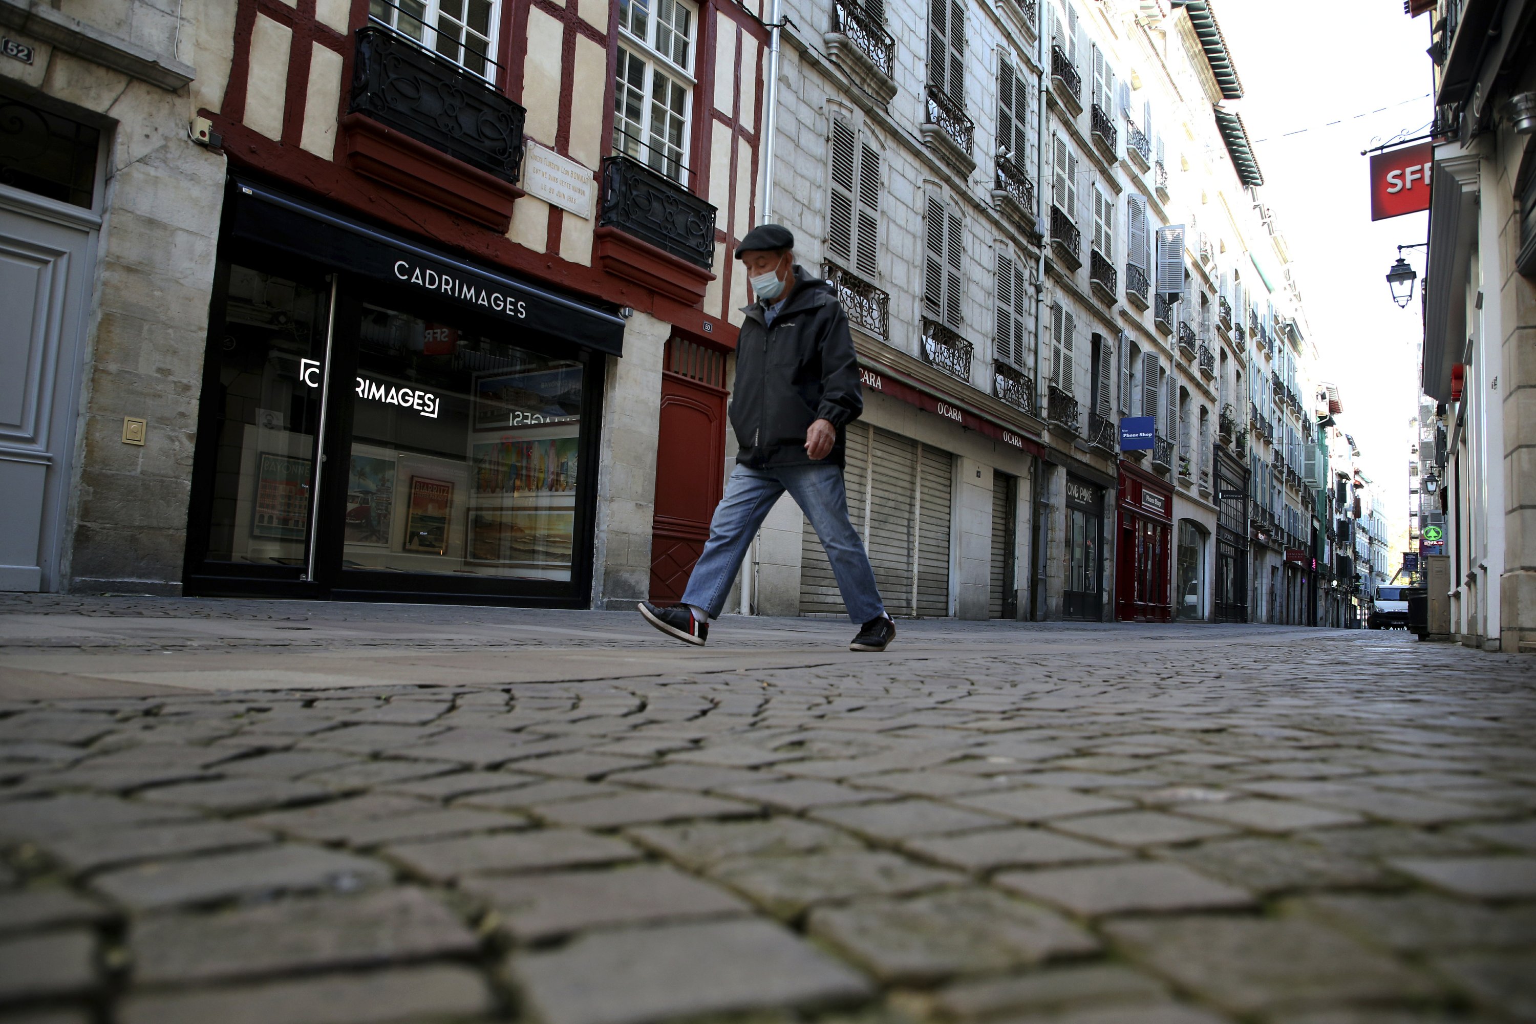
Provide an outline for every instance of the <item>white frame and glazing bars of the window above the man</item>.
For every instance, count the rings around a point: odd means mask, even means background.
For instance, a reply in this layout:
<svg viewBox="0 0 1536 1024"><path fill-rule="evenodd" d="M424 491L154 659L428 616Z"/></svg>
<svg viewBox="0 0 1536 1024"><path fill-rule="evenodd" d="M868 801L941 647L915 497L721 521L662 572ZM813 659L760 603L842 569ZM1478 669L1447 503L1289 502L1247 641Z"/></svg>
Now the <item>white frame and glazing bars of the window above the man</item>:
<svg viewBox="0 0 1536 1024"><path fill-rule="evenodd" d="M680 9L687 14L684 32L677 32L676 21L667 21L660 15L664 11ZM644 25L634 29L636 15L644 14ZM662 32L670 38L662 38ZM682 37L684 60L676 58L676 37ZM664 52L668 48L671 52ZM614 63L614 95L613 95L613 150L631 157L662 173L673 181L688 186L693 172L688 158L693 149L693 101L697 80L693 77L694 60L699 51L699 8L688 0L627 0L619 9L619 41L617 60ZM639 86L627 75L634 66L641 68ZM676 127L677 140L670 141L667 135L657 135L656 117L656 80L657 77L673 86L682 97L682 112L667 106L664 126ZM641 106L639 123L625 112L625 103L637 94ZM676 100L676 94L668 103ZM676 118L676 124L671 118Z"/></svg>

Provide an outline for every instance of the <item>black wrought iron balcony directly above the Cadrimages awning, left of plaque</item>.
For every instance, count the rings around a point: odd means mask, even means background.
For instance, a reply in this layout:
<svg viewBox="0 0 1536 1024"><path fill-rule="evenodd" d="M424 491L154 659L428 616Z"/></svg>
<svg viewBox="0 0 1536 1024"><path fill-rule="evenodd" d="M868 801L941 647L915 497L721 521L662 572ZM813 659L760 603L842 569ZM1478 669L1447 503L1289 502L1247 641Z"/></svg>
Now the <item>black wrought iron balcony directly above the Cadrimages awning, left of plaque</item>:
<svg viewBox="0 0 1536 1024"><path fill-rule="evenodd" d="M350 114L510 184L522 172L524 109L488 81L381 25L355 32ZM714 233L710 233L714 250Z"/></svg>

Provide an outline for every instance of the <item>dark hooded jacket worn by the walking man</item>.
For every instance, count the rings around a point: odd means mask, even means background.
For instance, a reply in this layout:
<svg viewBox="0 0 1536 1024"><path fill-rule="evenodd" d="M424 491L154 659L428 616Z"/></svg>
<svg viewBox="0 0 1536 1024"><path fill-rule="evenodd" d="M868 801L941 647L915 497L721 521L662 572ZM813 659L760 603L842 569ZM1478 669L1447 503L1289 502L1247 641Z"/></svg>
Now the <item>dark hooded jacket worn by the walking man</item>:
<svg viewBox="0 0 1536 1024"><path fill-rule="evenodd" d="M837 444L820 461L843 465L843 428L863 411L859 358L833 286L799 264L794 281L773 327L762 301L742 309L731 427L740 445L736 461L754 468L809 465L805 431L817 419L837 428Z"/></svg>

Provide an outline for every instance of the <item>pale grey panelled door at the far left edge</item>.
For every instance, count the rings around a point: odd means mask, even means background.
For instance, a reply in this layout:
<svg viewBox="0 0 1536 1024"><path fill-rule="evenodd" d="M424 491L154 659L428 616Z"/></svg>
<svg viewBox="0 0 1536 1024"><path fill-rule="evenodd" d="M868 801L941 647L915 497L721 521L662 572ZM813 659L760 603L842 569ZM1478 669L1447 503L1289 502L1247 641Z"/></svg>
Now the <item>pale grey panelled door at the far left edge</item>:
<svg viewBox="0 0 1536 1024"><path fill-rule="evenodd" d="M100 218L0 186L0 590L61 590Z"/></svg>

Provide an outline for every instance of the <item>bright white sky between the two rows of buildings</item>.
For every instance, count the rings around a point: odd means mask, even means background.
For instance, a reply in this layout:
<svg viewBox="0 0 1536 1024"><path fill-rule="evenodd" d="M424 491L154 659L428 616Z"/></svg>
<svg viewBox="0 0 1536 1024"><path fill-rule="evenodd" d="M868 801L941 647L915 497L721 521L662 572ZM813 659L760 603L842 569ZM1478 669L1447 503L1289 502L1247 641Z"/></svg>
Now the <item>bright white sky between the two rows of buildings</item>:
<svg viewBox="0 0 1536 1024"><path fill-rule="evenodd" d="M1428 130L1430 15L1409 18L1402 0L1213 0L1212 9L1243 80L1244 98L1227 106L1243 114L1260 192L1295 259L1319 376L1339 387L1339 427L1359 445L1396 539L1409 516L1424 250L1402 253L1419 273L1407 309L1393 304L1385 273L1399 244L1425 239L1428 215L1372 224L1359 150Z"/></svg>

